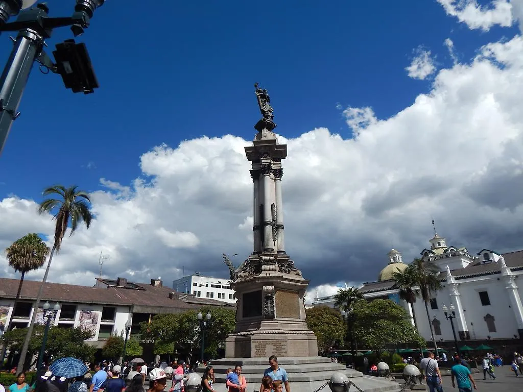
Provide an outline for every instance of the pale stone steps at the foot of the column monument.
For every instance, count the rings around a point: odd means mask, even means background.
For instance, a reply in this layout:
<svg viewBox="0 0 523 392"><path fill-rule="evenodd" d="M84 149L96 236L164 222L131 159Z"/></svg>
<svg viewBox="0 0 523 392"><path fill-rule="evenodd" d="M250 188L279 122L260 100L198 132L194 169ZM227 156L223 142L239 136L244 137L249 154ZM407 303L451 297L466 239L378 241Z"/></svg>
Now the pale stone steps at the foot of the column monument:
<svg viewBox="0 0 523 392"><path fill-rule="evenodd" d="M400 385L383 377L364 376L361 372L347 369L345 365L333 363L323 356L303 356L278 358L278 363L285 368L291 383L291 389L298 392L313 392L324 385L334 372L343 372L349 380L364 392L398 392ZM267 358L223 358L211 362L214 368L215 390L225 389L225 371L236 365L242 365L242 375L247 380L247 392L258 390L264 371L269 367ZM198 368L203 373L203 368ZM222 389L223 388L223 389ZM328 392L325 386L322 389ZM351 386L350 392L357 392Z"/></svg>

